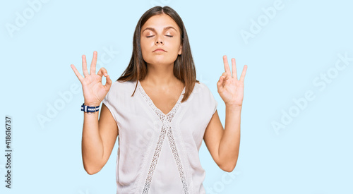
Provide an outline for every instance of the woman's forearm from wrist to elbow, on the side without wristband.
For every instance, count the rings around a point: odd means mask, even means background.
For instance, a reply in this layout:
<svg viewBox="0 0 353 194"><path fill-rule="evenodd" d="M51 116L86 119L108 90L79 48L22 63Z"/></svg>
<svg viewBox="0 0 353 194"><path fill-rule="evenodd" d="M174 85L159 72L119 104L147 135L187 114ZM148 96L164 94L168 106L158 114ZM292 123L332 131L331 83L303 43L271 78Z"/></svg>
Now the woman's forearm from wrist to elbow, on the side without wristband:
<svg viewBox="0 0 353 194"><path fill-rule="evenodd" d="M241 107L226 106L225 131L220 140L219 157L223 166L234 169L240 145Z"/></svg>

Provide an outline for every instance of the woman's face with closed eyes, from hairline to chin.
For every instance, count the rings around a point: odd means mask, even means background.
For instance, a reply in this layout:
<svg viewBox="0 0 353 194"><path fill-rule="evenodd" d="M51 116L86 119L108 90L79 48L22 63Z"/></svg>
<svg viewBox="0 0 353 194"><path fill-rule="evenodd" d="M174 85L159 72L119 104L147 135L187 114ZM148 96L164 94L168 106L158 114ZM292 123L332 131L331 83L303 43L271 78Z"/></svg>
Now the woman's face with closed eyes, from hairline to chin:
<svg viewBox="0 0 353 194"><path fill-rule="evenodd" d="M178 54L181 54L179 27L166 14L150 17L141 28L140 40L143 60L146 63L174 64Z"/></svg>

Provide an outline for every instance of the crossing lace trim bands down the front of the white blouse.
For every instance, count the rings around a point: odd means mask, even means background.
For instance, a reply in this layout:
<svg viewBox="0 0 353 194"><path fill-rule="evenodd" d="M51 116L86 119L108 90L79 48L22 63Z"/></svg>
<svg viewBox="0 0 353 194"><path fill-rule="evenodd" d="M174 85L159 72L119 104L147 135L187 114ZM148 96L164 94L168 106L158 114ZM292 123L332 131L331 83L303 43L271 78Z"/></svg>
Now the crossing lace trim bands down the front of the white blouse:
<svg viewBox="0 0 353 194"><path fill-rule="evenodd" d="M152 176L153 173L155 171L155 167L157 165L158 162L158 158L160 157L160 151L162 149L162 144L164 142L164 138L165 135L167 133L167 137L168 137L168 141L169 141L169 147L172 150L172 154L174 156L174 160L177 164L177 168L179 171L179 176L181 179L181 183L183 184L183 188L184 188L184 193L189 193L189 188L188 185L186 183L186 178L185 178L185 174L184 174L184 169L183 166L181 164L181 159L179 157L179 152L177 150L177 146L175 144L175 140L174 140L174 136L172 133L172 127L170 125L170 123L172 122L172 119L174 117L174 115L176 114L180 104L181 104L181 99L184 97L183 94L185 92L185 87L183 92L181 92L181 95L177 101L177 104L174 105L174 107L172 108L171 111L169 111L168 114L164 114L160 109L158 109L155 104L153 104L152 99L150 99L150 97L146 94L145 90L143 90L143 87L140 85L140 82L138 81L138 90L140 90L141 94L143 95L143 98L145 99L145 101L148 103L148 105L150 106L150 108L152 108L153 111L155 111L155 114L157 114L157 116L160 118L160 121L162 121L163 125L160 131L160 137L158 138L158 142L157 145L155 147L155 153L153 154L153 158L152 158L152 162L150 164L150 169L148 171L148 176L145 180L145 186L143 188L143 194L147 194L148 190L150 189L150 184L152 181Z"/></svg>

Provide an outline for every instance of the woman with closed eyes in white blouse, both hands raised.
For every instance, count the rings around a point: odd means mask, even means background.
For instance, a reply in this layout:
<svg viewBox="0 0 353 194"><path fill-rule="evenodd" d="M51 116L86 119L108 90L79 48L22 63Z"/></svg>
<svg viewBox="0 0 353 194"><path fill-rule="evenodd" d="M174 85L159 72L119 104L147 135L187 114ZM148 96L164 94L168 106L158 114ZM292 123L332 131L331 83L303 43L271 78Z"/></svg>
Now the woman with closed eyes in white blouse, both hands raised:
<svg viewBox="0 0 353 194"><path fill-rule="evenodd" d="M82 60L84 77L71 67L85 99L82 156L88 174L106 164L118 135L117 193L205 193L198 157L202 140L222 170L234 169L247 66L238 80L235 59L231 72L223 56L225 73L217 89L226 106L224 129L213 94L196 80L184 23L172 8L156 6L143 14L131 61L116 82L105 68L95 74L97 51L90 73L84 55Z"/></svg>

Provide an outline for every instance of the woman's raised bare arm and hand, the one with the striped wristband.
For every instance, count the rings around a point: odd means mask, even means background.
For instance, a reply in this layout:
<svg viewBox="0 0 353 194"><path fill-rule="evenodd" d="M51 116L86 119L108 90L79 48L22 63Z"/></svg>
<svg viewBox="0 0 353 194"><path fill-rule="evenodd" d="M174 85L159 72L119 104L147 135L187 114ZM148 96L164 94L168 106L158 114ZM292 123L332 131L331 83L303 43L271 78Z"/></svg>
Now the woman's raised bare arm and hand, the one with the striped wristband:
<svg viewBox="0 0 353 194"><path fill-rule="evenodd" d="M71 65L82 84L85 105L90 107L99 106L112 86L112 80L105 68L100 68L95 74L96 63L97 51L94 51L89 73L85 55L82 56L84 77L78 73L75 66ZM105 85L102 85L103 75L107 78ZM88 174L96 174L107 163L118 136L118 126L109 109L102 104L99 121L98 113L83 113L82 159L83 167Z"/></svg>

